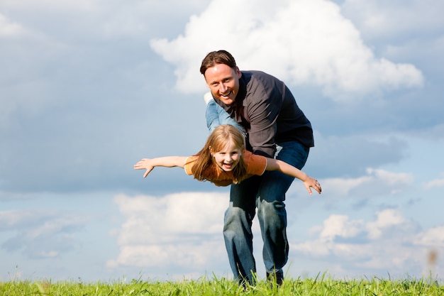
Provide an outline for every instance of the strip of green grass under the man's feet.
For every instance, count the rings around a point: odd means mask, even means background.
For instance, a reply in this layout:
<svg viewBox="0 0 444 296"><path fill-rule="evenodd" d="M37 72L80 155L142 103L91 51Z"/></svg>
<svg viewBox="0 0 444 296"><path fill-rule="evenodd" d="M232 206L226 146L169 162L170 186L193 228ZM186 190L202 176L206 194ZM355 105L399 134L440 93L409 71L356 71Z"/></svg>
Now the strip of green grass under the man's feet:
<svg viewBox="0 0 444 296"><path fill-rule="evenodd" d="M41 281L0 282L0 296L112 296L112 295L444 295L444 286L434 280L334 280L326 278L286 279L277 288L265 281L257 285L241 287L233 280L201 278L177 282L150 282L133 280L131 283L75 283Z"/></svg>

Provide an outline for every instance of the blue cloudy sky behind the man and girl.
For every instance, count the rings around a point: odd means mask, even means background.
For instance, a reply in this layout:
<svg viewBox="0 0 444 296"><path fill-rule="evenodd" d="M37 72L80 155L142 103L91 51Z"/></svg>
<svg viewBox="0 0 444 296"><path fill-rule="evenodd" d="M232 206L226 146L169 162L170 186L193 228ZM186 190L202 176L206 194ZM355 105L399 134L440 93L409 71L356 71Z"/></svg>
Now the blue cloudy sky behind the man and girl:
<svg viewBox="0 0 444 296"><path fill-rule="evenodd" d="M200 62L284 81L315 147L287 192L288 278L443 279L441 0L0 0L0 280L231 278L229 187L192 155ZM253 221L257 273L265 277Z"/></svg>

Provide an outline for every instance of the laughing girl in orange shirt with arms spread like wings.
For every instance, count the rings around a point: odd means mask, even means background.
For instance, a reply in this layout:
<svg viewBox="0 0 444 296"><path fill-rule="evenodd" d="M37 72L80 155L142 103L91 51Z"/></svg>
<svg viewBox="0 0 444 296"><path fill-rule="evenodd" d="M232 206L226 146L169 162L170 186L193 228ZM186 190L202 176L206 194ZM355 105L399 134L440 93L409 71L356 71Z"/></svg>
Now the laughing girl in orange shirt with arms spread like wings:
<svg viewBox="0 0 444 296"><path fill-rule="evenodd" d="M282 160L265 158L245 150L245 138L238 128L229 124L217 126L206 140L204 148L193 156L166 156L162 158L143 158L134 165L135 170L146 170L146 177L155 167L184 168L187 175L194 175L199 181L210 181L216 186L237 184L252 175L262 175L265 170L279 170L296 177L302 182L309 194L311 188L321 193L319 182Z"/></svg>

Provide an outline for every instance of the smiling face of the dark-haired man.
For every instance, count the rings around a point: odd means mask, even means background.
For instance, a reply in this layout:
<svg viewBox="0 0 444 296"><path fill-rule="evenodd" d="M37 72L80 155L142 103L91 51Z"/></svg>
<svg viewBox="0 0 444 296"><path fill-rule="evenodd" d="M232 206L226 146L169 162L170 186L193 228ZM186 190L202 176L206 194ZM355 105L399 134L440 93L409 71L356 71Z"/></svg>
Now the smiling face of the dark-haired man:
<svg viewBox="0 0 444 296"><path fill-rule="evenodd" d="M223 104L230 105L235 101L239 91L239 78L242 74L239 68L229 67L225 64L216 64L205 71L206 85L214 97L220 99Z"/></svg>

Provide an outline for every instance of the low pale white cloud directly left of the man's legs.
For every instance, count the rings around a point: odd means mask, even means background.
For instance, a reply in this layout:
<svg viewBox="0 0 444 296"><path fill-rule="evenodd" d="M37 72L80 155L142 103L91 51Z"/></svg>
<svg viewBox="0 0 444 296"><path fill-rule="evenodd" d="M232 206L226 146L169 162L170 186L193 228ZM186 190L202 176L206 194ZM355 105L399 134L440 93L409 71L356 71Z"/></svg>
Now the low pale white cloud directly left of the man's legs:
<svg viewBox="0 0 444 296"><path fill-rule="evenodd" d="M222 229L227 193L118 195L114 201L126 221L116 231L120 252L118 258L107 263L109 268L197 267L225 258Z"/></svg>

